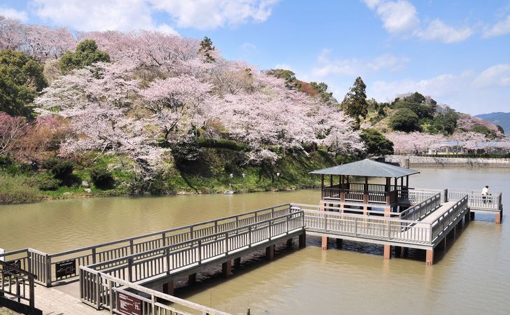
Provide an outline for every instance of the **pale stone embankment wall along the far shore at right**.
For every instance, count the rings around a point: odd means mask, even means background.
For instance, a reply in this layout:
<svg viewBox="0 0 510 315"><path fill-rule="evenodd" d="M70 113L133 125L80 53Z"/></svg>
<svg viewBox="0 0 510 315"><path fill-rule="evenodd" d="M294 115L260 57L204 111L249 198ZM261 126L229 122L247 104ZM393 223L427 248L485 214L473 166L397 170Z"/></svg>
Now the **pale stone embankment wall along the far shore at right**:
<svg viewBox="0 0 510 315"><path fill-rule="evenodd" d="M385 162L402 167L409 160L409 167L499 167L510 168L510 159L507 158L441 158L414 155L386 155Z"/></svg>

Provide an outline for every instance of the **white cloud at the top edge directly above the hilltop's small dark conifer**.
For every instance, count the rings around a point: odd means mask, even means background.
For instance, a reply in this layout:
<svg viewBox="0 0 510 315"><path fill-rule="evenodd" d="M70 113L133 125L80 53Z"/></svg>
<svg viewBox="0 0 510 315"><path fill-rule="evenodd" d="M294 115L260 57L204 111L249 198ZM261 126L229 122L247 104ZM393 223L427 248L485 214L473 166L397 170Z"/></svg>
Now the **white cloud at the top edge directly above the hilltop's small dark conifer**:
<svg viewBox="0 0 510 315"><path fill-rule="evenodd" d="M152 6L174 18L179 27L215 29L250 20L266 21L277 0L149 0Z"/></svg>

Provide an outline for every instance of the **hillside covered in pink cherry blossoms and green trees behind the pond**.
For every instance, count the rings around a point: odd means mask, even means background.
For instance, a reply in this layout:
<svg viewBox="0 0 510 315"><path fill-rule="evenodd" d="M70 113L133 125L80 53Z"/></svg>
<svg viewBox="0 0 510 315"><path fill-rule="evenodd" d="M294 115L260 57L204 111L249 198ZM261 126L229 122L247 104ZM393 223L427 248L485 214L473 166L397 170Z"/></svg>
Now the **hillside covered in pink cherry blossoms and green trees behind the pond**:
<svg viewBox="0 0 510 315"><path fill-rule="evenodd" d="M0 17L0 203L298 188L312 169L418 142L503 137L431 97L365 90L357 78L339 103L326 83L225 59L207 37Z"/></svg>

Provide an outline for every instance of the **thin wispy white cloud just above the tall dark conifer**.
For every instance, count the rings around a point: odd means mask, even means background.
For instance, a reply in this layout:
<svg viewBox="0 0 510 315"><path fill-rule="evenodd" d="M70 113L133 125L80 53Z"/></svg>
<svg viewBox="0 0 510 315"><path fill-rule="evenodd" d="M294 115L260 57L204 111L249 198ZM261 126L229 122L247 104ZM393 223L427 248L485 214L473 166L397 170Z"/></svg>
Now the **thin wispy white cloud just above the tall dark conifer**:
<svg viewBox="0 0 510 315"><path fill-rule="evenodd" d="M324 78L326 76L361 76L366 72L388 69L398 71L404 69L410 59L385 54L369 60L331 59L331 50L322 50L317 57L317 66L312 68L312 76Z"/></svg>

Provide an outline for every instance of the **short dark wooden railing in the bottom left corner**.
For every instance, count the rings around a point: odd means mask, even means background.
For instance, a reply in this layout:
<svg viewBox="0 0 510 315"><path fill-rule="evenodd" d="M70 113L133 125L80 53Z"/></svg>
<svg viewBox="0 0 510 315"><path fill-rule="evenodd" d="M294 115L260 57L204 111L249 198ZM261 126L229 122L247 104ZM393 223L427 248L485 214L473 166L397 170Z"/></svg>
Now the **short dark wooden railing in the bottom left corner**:
<svg viewBox="0 0 510 315"><path fill-rule="evenodd" d="M1 260L0 267L0 293L18 302L28 302L30 307L34 307L35 274Z"/></svg>

